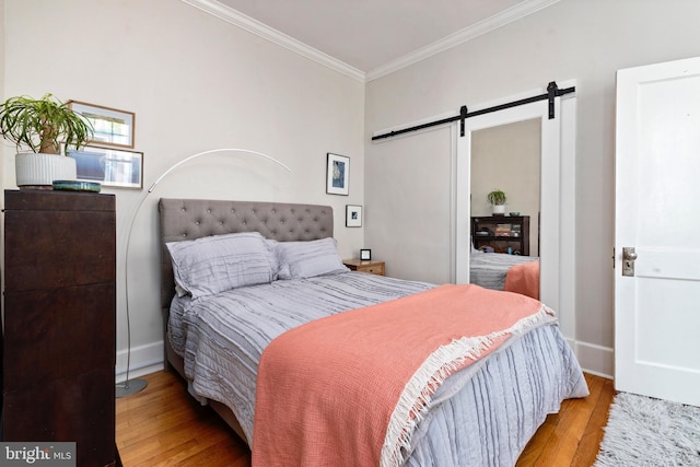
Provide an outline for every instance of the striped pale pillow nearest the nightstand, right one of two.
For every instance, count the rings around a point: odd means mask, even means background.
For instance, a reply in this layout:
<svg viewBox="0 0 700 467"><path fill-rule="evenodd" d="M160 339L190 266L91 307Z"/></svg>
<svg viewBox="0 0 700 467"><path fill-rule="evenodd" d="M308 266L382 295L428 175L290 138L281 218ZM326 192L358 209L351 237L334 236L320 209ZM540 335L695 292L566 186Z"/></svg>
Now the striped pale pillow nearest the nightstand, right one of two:
<svg viewBox="0 0 700 467"><path fill-rule="evenodd" d="M348 272L338 256L336 240L326 237L310 242L277 244L279 279L302 279Z"/></svg>

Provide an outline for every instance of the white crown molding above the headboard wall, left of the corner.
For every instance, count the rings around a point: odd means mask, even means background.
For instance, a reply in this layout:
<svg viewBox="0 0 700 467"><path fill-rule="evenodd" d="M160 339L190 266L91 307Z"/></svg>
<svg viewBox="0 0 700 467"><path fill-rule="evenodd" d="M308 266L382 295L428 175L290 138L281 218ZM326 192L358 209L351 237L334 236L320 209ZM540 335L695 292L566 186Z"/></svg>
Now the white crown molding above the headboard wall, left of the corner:
<svg viewBox="0 0 700 467"><path fill-rule="evenodd" d="M338 71L345 75L353 78L358 81L364 82L365 73L358 70L350 65L340 61L320 50L317 50L306 44L296 40L287 34L277 31L250 16L247 16L232 8L219 3L217 0L182 0L183 2L198 8L199 10L207 12L213 16L219 17L228 23L234 24L249 33L258 35L265 39L268 39L279 46L282 46L289 50L292 50L303 57L314 60L317 63L326 66L335 71Z"/></svg>

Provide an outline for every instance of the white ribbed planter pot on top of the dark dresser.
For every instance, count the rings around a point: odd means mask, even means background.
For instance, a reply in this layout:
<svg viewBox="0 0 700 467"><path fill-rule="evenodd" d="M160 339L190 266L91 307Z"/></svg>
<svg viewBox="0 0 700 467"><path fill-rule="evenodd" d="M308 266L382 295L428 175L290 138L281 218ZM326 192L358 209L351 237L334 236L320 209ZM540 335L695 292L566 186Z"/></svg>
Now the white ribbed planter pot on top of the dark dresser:
<svg viewBox="0 0 700 467"><path fill-rule="evenodd" d="M54 180L78 178L75 160L60 154L20 153L14 159L16 183L20 188L48 189Z"/></svg>

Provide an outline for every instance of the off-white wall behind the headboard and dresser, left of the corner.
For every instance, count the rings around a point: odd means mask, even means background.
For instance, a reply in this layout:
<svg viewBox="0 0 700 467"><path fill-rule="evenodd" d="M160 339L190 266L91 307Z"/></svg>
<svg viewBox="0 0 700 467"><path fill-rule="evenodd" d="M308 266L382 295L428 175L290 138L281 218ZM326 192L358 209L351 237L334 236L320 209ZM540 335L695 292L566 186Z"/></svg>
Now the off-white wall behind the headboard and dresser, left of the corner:
<svg viewBox="0 0 700 467"><path fill-rule="evenodd" d="M172 173L148 198L129 255L137 373L162 360L159 197L331 205L341 255L358 255L363 230L345 227L345 205L364 205L361 82L179 0L4 0L4 19L2 93L51 92L63 101L135 112L145 188L176 162L215 148L260 151L292 168L287 173L249 155L203 156ZM13 167L14 150L4 152ZM325 192L327 152L350 156L348 197ZM13 168L3 174L2 187L15 188ZM127 229L145 190L103 191L117 196L119 373L127 345Z"/></svg>

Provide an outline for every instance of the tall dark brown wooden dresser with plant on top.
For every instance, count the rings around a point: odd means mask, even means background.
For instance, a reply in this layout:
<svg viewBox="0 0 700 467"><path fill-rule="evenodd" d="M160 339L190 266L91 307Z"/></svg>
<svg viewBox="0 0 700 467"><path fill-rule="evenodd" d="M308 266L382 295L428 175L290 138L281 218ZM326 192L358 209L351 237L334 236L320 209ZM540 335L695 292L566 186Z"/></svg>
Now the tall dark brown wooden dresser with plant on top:
<svg viewBox="0 0 700 467"><path fill-rule="evenodd" d="M115 197L5 191L3 441L116 465Z"/></svg>

